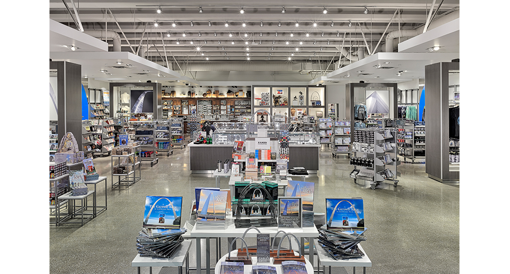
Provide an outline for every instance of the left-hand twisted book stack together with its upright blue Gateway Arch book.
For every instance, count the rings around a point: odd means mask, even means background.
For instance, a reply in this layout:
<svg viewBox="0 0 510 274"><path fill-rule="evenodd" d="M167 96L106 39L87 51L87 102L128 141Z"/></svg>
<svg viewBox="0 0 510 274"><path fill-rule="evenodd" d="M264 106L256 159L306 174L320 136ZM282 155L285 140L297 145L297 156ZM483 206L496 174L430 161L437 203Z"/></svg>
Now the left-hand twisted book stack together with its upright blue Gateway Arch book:
<svg viewBox="0 0 510 274"><path fill-rule="evenodd" d="M140 257L170 258L184 241L182 197L147 196L142 231L136 238Z"/></svg>

